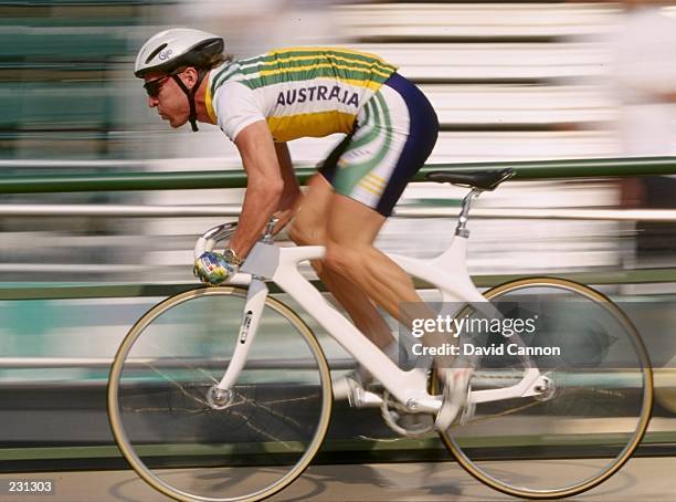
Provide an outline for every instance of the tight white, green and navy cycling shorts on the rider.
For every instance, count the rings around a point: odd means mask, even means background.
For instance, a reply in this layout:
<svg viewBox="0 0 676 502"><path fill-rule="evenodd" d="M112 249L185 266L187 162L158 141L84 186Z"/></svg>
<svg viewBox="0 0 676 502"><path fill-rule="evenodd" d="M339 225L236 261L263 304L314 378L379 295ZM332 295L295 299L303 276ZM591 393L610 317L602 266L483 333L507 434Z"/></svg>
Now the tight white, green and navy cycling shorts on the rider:
<svg viewBox="0 0 676 502"><path fill-rule="evenodd" d="M432 153L437 134L436 113L425 95L394 73L362 107L353 132L319 172L337 194L388 217Z"/></svg>

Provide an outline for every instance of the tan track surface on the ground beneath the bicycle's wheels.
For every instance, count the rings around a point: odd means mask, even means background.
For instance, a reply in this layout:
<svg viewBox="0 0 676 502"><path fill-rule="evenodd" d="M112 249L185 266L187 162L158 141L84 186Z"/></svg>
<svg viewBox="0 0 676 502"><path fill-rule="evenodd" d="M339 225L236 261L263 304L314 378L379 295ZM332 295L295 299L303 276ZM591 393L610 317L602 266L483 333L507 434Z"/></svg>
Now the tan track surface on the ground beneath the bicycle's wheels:
<svg viewBox="0 0 676 502"><path fill-rule="evenodd" d="M581 464L584 460L580 460ZM536 469L556 468L542 462ZM568 468L571 469L571 468ZM673 501L676 496L676 458L631 460L617 474L577 500ZM166 501L133 471L1 474L7 480L53 480L55 493L0 495L1 501L155 502ZM453 462L317 466L308 469L271 501L493 501L515 500L480 485Z"/></svg>

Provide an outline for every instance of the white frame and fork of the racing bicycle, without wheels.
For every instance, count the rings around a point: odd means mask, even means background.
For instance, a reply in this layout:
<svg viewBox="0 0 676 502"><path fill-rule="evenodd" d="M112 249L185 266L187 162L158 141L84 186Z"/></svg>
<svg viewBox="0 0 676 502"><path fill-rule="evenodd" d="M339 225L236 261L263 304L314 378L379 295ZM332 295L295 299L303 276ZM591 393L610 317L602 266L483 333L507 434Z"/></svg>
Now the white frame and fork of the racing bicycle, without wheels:
<svg viewBox="0 0 676 502"><path fill-rule="evenodd" d="M461 219L462 223L462 219ZM218 239L210 236L223 233L226 226L212 229L201 238L196 247L196 258L204 251L211 251ZM458 234L460 233L460 234ZM457 232L450 248L441 255L429 259L413 259L398 254L388 254L409 274L420 278L436 286L442 301L454 303L486 303L478 292L466 269L467 237ZM288 293L310 314L355 359L371 373L384 388L405 405L411 411L436 412L442 404L441 396L431 396L427 390L426 372L420 369L402 370L382 351L371 343L340 312L338 312L298 271L298 264L323 259L325 248L308 245L297 248L278 248L270 241L254 245L241 272L228 284L247 285L249 293L244 306L243 321L239 342L225 375L216 388L223 391L234 386L246 363L249 348L252 346L263 312L265 297L268 294L266 281L273 281ZM513 399L542 394L546 377L538 368L527 368L524 377L515 385L487 390L472 390L471 402L487 402ZM363 406L379 406L382 398L373 393L366 393Z"/></svg>

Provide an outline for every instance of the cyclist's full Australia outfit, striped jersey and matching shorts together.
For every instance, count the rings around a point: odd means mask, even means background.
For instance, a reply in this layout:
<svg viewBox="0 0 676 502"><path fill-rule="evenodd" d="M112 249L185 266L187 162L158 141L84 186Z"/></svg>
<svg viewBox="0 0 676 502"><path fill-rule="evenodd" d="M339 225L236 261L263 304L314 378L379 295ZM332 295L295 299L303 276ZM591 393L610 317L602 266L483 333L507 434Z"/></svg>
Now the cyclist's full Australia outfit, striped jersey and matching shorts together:
<svg viewBox="0 0 676 502"><path fill-rule="evenodd" d="M207 111L234 142L266 121L276 142L347 135L319 171L337 194L389 216L439 132L432 105L397 69L345 49L283 49L210 73Z"/></svg>

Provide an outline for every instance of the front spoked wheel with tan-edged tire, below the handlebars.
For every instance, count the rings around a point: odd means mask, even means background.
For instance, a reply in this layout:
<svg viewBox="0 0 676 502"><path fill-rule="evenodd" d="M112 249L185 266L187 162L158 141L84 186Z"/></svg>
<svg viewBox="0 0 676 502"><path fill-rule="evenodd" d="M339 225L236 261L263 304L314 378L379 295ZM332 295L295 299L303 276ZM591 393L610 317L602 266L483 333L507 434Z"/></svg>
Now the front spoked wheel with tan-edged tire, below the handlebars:
<svg viewBox="0 0 676 502"><path fill-rule="evenodd" d="M330 375L310 330L267 297L247 363L215 393L241 342L246 290L198 289L148 311L108 385L115 439L138 474L182 501L253 501L294 481L319 449Z"/></svg>

